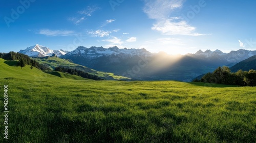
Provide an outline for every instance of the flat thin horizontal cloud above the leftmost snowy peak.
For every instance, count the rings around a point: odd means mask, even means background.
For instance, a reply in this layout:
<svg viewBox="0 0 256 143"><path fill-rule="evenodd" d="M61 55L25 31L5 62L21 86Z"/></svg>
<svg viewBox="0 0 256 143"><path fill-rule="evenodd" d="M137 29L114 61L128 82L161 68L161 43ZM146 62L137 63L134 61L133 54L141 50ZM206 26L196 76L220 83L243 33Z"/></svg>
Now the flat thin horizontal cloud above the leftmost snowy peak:
<svg viewBox="0 0 256 143"><path fill-rule="evenodd" d="M37 34L42 34L46 36L71 36L74 35L74 31L41 29Z"/></svg>

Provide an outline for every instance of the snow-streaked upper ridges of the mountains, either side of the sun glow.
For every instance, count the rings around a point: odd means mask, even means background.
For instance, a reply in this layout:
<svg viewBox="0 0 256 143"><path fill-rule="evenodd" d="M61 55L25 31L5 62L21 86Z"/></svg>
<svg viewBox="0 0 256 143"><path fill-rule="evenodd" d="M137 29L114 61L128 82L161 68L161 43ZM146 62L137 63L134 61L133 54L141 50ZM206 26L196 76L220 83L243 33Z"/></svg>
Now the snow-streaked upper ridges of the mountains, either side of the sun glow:
<svg viewBox="0 0 256 143"><path fill-rule="evenodd" d="M25 50L20 50L18 53L26 54L30 57L46 57L52 56L52 54L56 54L58 57L65 59L68 59L69 57L82 57L86 58L87 60L93 60L100 57L109 56L124 59L133 56L152 57L155 55L155 53L148 52L146 51L146 49L119 49L117 46L109 47L108 49L102 46L92 46L90 48L78 46L77 49L68 52L64 50L51 50L48 47L39 44L30 46ZM205 52L199 50L195 54L186 54L184 56L191 56L205 60L218 59L221 61L227 61L228 63L238 63L253 55L256 55L256 51L240 49L238 51L231 51L230 53L223 53L222 51L217 49L216 51L206 50Z"/></svg>

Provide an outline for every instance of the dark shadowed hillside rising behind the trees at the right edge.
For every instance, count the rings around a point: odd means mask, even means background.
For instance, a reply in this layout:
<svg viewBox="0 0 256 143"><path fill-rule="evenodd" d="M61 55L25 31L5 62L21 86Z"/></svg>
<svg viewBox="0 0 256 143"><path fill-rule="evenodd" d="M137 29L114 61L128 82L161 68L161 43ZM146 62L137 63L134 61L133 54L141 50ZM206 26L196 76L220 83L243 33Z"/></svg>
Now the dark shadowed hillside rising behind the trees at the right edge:
<svg viewBox="0 0 256 143"><path fill-rule="evenodd" d="M256 56L252 56L246 60L243 60L236 65L232 66L231 71L236 72L240 69L244 71L249 71L250 69L256 70Z"/></svg>

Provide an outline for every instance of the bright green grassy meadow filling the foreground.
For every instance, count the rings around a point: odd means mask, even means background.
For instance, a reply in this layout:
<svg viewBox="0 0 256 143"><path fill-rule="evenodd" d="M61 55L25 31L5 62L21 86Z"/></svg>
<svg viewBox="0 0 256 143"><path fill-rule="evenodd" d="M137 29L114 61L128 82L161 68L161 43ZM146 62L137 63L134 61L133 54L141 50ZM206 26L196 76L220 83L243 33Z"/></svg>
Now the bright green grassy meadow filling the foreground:
<svg viewBox="0 0 256 143"><path fill-rule="evenodd" d="M0 59L0 142L255 142L256 88L59 78ZM4 112L1 107L1 112Z"/></svg>

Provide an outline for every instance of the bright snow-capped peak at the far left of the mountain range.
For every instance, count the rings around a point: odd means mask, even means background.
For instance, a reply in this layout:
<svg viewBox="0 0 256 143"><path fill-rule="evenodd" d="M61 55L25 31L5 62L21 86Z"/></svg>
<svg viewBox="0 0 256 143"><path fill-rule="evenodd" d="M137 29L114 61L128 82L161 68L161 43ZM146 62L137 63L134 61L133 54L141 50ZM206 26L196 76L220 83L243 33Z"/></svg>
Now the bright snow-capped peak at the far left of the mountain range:
<svg viewBox="0 0 256 143"><path fill-rule="evenodd" d="M18 53L22 53L30 57L47 57L47 56L52 56L52 54L56 54L58 57L60 57L68 53L68 51L51 50L46 46L35 44L33 46L28 47L25 50L20 50Z"/></svg>

